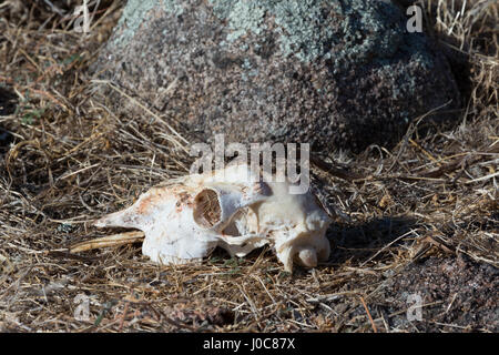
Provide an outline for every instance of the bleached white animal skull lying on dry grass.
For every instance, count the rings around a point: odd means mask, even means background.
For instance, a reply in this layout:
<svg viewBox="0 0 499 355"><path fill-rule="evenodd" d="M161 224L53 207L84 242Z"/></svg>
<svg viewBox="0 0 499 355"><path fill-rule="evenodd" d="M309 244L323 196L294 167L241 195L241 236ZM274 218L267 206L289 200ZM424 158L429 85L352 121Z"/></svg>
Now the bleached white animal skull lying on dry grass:
<svg viewBox="0 0 499 355"><path fill-rule="evenodd" d="M289 182L266 182L247 165L192 174L153 187L129 209L95 222L144 232L142 252L161 264L201 260L216 246L244 256L269 243L286 271L329 257L332 222L317 199L291 194Z"/></svg>

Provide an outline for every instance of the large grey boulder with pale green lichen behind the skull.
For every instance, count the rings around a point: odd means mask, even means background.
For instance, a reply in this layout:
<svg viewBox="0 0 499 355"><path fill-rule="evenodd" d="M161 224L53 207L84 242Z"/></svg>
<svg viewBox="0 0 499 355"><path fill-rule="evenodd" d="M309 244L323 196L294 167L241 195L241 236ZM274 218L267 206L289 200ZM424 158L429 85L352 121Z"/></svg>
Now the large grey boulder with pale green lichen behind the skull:
<svg viewBox="0 0 499 355"><path fill-rule="evenodd" d="M406 21L381 0L129 0L94 70L201 140L360 151L459 103L447 61Z"/></svg>

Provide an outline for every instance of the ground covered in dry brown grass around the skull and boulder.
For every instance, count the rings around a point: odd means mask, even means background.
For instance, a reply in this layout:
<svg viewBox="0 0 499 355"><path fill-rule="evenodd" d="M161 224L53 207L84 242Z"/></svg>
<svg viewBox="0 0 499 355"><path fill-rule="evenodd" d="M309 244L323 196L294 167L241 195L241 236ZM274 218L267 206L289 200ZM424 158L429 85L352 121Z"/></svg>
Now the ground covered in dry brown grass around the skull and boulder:
<svg viewBox="0 0 499 355"><path fill-rule="evenodd" d="M88 34L79 1L0 4L0 332L499 331L495 1L422 1L465 98L456 123L416 118L395 146L316 158L333 252L293 274L265 247L181 266L140 243L69 253L193 161L161 112L126 93L143 115L118 115L112 83L88 77L122 8L96 3Z"/></svg>

